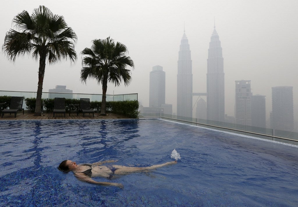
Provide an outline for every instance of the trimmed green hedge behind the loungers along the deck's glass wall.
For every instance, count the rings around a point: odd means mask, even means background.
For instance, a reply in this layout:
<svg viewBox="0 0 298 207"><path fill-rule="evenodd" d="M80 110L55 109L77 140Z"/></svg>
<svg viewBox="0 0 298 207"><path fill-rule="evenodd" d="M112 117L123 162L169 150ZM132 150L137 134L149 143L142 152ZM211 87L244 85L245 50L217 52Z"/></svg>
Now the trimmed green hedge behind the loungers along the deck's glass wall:
<svg viewBox="0 0 298 207"><path fill-rule="evenodd" d="M1 101L1 96L0 96ZM10 101L10 98L9 98ZM42 105L47 112L54 110L54 99L53 98L42 98ZM35 110L36 98L26 98L25 103L27 109L30 111ZM65 99L65 110L69 111L69 104L80 104L78 99ZM97 111L97 108L101 109L100 101L90 101L90 108L94 111ZM115 114L123 115L128 118L137 118L139 115L139 102L138 101L107 101L106 102L106 111L113 112Z"/></svg>

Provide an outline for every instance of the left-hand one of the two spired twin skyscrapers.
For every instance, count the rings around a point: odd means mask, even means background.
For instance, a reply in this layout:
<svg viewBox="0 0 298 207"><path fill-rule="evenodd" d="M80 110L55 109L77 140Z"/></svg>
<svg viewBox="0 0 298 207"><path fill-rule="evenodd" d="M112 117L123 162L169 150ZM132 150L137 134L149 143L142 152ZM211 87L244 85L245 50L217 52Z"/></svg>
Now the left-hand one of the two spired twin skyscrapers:
<svg viewBox="0 0 298 207"><path fill-rule="evenodd" d="M193 74L188 39L182 36L177 73L177 116L193 116Z"/></svg>

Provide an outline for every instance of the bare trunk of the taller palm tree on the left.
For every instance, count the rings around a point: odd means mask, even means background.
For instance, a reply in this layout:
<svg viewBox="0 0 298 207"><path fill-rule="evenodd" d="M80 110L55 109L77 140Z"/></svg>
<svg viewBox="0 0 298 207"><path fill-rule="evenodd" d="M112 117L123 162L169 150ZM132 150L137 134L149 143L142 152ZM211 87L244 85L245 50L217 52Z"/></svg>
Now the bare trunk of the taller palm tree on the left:
<svg viewBox="0 0 298 207"><path fill-rule="evenodd" d="M44 84L44 70L46 68L46 55L40 54L39 58L39 69L38 69L38 86L36 94L36 104L35 104L35 116L41 115L41 95L42 86Z"/></svg>

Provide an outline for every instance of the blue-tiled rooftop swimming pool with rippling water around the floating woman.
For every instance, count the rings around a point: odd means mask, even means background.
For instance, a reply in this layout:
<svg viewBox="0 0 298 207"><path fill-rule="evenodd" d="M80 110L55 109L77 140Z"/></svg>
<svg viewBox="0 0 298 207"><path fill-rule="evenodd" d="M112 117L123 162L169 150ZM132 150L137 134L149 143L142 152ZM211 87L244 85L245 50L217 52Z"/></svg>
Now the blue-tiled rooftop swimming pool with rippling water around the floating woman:
<svg viewBox="0 0 298 207"><path fill-rule="evenodd" d="M0 122L0 206L295 206L298 148L161 119ZM124 189L57 166L117 159L176 165L121 176ZM94 178L99 182L108 181Z"/></svg>

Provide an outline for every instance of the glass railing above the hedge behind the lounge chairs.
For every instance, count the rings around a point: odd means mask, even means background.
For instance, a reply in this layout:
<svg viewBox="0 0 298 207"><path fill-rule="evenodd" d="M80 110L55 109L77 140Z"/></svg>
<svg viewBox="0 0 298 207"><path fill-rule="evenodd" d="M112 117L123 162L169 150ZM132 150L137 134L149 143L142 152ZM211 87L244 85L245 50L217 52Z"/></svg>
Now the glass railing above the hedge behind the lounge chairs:
<svg viewBox="0 0 298 207"><path fill-rule="evenodd" d="M0 96L24 96L25 98L36 98L36 92L27 91L0 91ZM89 98L90 101L101 101L102 94L84 94L84 93L50 93L42 92L41 98ZM106 95L106 101L135 101L138 100L138 94L119 94L119 95ZM23 108L26 109L27 105L24 101Z"/></svg>

